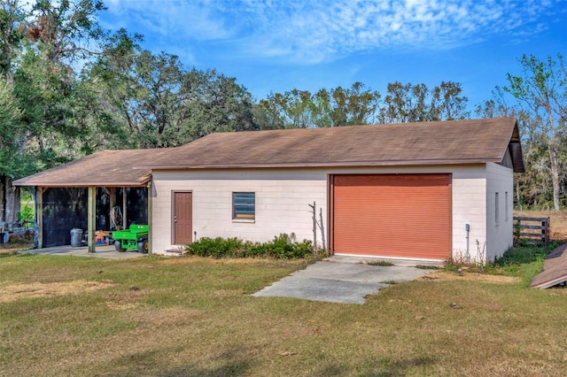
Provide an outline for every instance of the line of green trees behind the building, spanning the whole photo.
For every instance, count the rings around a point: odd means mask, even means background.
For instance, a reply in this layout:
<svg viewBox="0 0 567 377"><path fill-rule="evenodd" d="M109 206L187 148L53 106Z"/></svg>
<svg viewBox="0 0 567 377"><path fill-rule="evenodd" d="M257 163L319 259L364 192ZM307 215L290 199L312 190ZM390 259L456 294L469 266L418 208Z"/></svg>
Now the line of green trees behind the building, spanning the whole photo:
<svg viewBox="0 0 567 377"><path fill-rule="evenodd" d="M187 68L141 47L142 35L104 30L101 0L1 0L0 221L19 212L12 181L97 150L164 148L222 131L340 127L515 115L523 135L524 208L565 204L567 73L563 57L524 56L522 74L470 112L462 85L394 81L384 94L294 88L257 100L236 78ZM506 104L505 94L517 98Z"/></svg>

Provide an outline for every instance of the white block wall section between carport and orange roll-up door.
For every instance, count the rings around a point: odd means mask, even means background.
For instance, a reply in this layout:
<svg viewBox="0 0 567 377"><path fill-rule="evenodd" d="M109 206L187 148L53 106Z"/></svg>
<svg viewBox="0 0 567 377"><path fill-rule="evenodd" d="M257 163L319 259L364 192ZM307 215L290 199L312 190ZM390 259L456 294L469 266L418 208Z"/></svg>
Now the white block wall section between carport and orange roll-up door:
<svg viewBox="0 0 567 377"><path fill-rule="evenodd" d="M268 241L280 233L313 239L308 204L316 203L327 219L327 175L306 170L212 170L154 172L153 252L172 245L172 192L193 193L193 231L201 237L238 237ZM232 193L254 192L256 219L232 219ZM321 235L318 235L319 242Z"/></svg>

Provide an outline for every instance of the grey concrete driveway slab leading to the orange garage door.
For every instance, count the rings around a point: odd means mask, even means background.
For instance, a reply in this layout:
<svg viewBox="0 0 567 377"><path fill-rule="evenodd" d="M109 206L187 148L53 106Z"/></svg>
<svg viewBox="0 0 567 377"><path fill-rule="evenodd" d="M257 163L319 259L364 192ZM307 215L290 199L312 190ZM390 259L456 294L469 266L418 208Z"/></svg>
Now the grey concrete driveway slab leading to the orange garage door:
<svg viewBox="0 0 567 377"><path fill-rule="evenodd" d="M433 270L404 265L368 265L369 259L331 257L276 281L252 296L305 298L331 303L364 304L365 297L389 283L413 281ZM416 262L414 262L416 264Z"/></svg>

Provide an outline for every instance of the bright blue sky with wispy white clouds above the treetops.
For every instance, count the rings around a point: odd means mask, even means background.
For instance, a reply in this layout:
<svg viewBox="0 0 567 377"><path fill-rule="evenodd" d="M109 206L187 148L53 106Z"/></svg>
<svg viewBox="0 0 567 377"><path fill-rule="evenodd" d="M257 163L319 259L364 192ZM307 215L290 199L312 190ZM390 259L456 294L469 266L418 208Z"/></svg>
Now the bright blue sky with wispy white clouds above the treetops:
<svg viewBox="0 0 567 377"><path fill-rule="evenodd" d="M490 99L518 58L567 55L567 0L105 0L107 29L236 77L259 100L292 88L384 94L389 82L462 84Z"/></svg>

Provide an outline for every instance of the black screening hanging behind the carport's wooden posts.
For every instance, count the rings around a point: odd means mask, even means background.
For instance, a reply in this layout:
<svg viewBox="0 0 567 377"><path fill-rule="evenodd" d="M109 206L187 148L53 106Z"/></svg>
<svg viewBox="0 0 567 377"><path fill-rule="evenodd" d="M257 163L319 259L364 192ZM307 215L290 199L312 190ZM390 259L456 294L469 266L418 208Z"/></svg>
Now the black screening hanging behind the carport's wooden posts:
<svg viewBox="0 0 567 377"><path fill-rule="evenodd" d="M43 192L43 247L68 245L71 229L88 227L87 188L47 188ZM122 188L116 189L116 204L122 206ZM127 220L131 224L148 223L147 188L126 188ZM97 188L97 230L110 229L110 196Z"/></svg>

